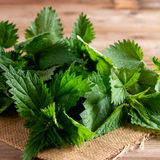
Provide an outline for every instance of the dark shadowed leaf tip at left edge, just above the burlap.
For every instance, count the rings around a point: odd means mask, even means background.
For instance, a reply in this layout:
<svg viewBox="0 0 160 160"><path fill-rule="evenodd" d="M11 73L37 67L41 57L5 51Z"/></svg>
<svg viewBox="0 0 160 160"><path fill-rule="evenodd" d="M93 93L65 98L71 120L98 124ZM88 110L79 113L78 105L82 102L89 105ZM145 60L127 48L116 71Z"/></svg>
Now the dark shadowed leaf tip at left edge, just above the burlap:
<svg viewBox="0 0 160 160"><path fill-rule="evenodd" d="M0 114L5 111L13 103L13 100L9 98L5 93L0 92Z"/></svg>

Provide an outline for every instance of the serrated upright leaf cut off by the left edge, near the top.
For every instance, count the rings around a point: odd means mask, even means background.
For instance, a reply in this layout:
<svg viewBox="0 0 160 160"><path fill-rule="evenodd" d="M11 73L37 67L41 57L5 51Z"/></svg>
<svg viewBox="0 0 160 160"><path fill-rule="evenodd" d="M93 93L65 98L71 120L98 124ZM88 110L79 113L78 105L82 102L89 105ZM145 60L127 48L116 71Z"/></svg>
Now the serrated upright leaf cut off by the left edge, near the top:
<svg viewBox="0 0 160 160"><path fill-rule="evenodd" d="M2 48L9 48L17 43L18 29L15 29L13 23L8 24L8 21L0 22L0 46Z"/></svg>

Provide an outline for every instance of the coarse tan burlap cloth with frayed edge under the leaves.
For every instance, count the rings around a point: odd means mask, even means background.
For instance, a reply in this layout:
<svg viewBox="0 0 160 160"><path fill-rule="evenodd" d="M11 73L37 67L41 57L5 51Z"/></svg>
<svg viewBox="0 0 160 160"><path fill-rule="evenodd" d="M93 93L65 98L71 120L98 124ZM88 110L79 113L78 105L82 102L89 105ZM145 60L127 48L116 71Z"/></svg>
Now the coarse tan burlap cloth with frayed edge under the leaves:
<svg viewBox="0 0 160 160"><path fill-rule="evenodd" d="M7 109L0 115L0 140L24 150L29 130L23 127L14 108ZM129 123L110 133L85 142L80 148L66 145L66 149L45 148L37 154L45 160L107 160L119 154L125 146L141 143L145 137L151 138L156 132Z"/></svg>

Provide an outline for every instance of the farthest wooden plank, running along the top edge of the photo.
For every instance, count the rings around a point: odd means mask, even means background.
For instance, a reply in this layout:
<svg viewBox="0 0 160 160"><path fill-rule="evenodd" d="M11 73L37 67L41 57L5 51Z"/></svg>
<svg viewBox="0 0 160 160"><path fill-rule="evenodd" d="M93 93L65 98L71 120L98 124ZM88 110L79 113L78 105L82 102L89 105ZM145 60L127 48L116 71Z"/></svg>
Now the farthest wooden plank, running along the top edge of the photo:
<svg viewBox="0 0 160 160"><path fill-rule="evenodd" d="M27 5L27 4L101 4L107 8L115 8L115 9L159 9L160 8L160 0L41 0L37 3L37 0L0 0L0 5L4 4L12 4L12 5Z"/></svg>

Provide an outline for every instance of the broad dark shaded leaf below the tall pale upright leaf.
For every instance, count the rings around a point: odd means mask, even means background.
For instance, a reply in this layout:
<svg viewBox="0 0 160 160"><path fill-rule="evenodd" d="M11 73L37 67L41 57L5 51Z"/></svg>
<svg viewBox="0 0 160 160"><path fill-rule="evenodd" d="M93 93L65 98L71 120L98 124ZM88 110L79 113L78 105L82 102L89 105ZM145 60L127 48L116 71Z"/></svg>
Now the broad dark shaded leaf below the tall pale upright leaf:
<svg viewBox="0 0 160 160"><path fill-rule="evenodd" d="M71 63L77 58L69 51L66 43L58 41L55 44L47 43L48 33L27 39L27 41L17 44L18 47L28 54L24 59L34 66L36 70L44 70L53 65L63 65ZM34 54L31 55L31 54Z"/></svg>

